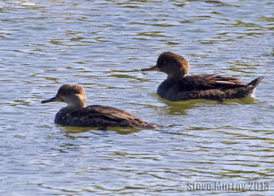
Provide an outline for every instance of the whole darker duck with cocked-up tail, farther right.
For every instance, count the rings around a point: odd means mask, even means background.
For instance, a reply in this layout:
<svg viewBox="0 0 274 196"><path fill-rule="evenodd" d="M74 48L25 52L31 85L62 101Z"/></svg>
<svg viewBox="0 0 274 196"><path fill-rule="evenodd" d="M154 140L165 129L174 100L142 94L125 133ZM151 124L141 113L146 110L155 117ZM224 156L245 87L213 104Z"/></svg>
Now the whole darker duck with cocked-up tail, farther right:
<svg viewBox="0 0 274 196"><path fill-rule="evenodd" d="M248 84L242 84L236 77L215 74L186 76L189 72L188 61L170 51L162 53L155 66L141 71L162 71L167 74L167 78L158 87L157 93L170 101L253 97L255 88L263 78L258 77Z"/></svg>

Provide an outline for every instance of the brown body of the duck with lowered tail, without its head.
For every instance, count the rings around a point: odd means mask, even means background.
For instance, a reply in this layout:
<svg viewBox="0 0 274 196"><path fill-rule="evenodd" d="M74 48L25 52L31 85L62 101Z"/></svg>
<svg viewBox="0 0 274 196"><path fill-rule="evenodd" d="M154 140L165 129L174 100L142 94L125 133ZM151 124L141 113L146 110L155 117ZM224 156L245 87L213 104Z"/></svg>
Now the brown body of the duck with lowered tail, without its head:
<svg viewBox="0 0 274 196"><path fill-rule="evenodd" d="M124 110L100 105L72 110L62 108L55 115L54 123L75 127L156 127Z"/></svg>

